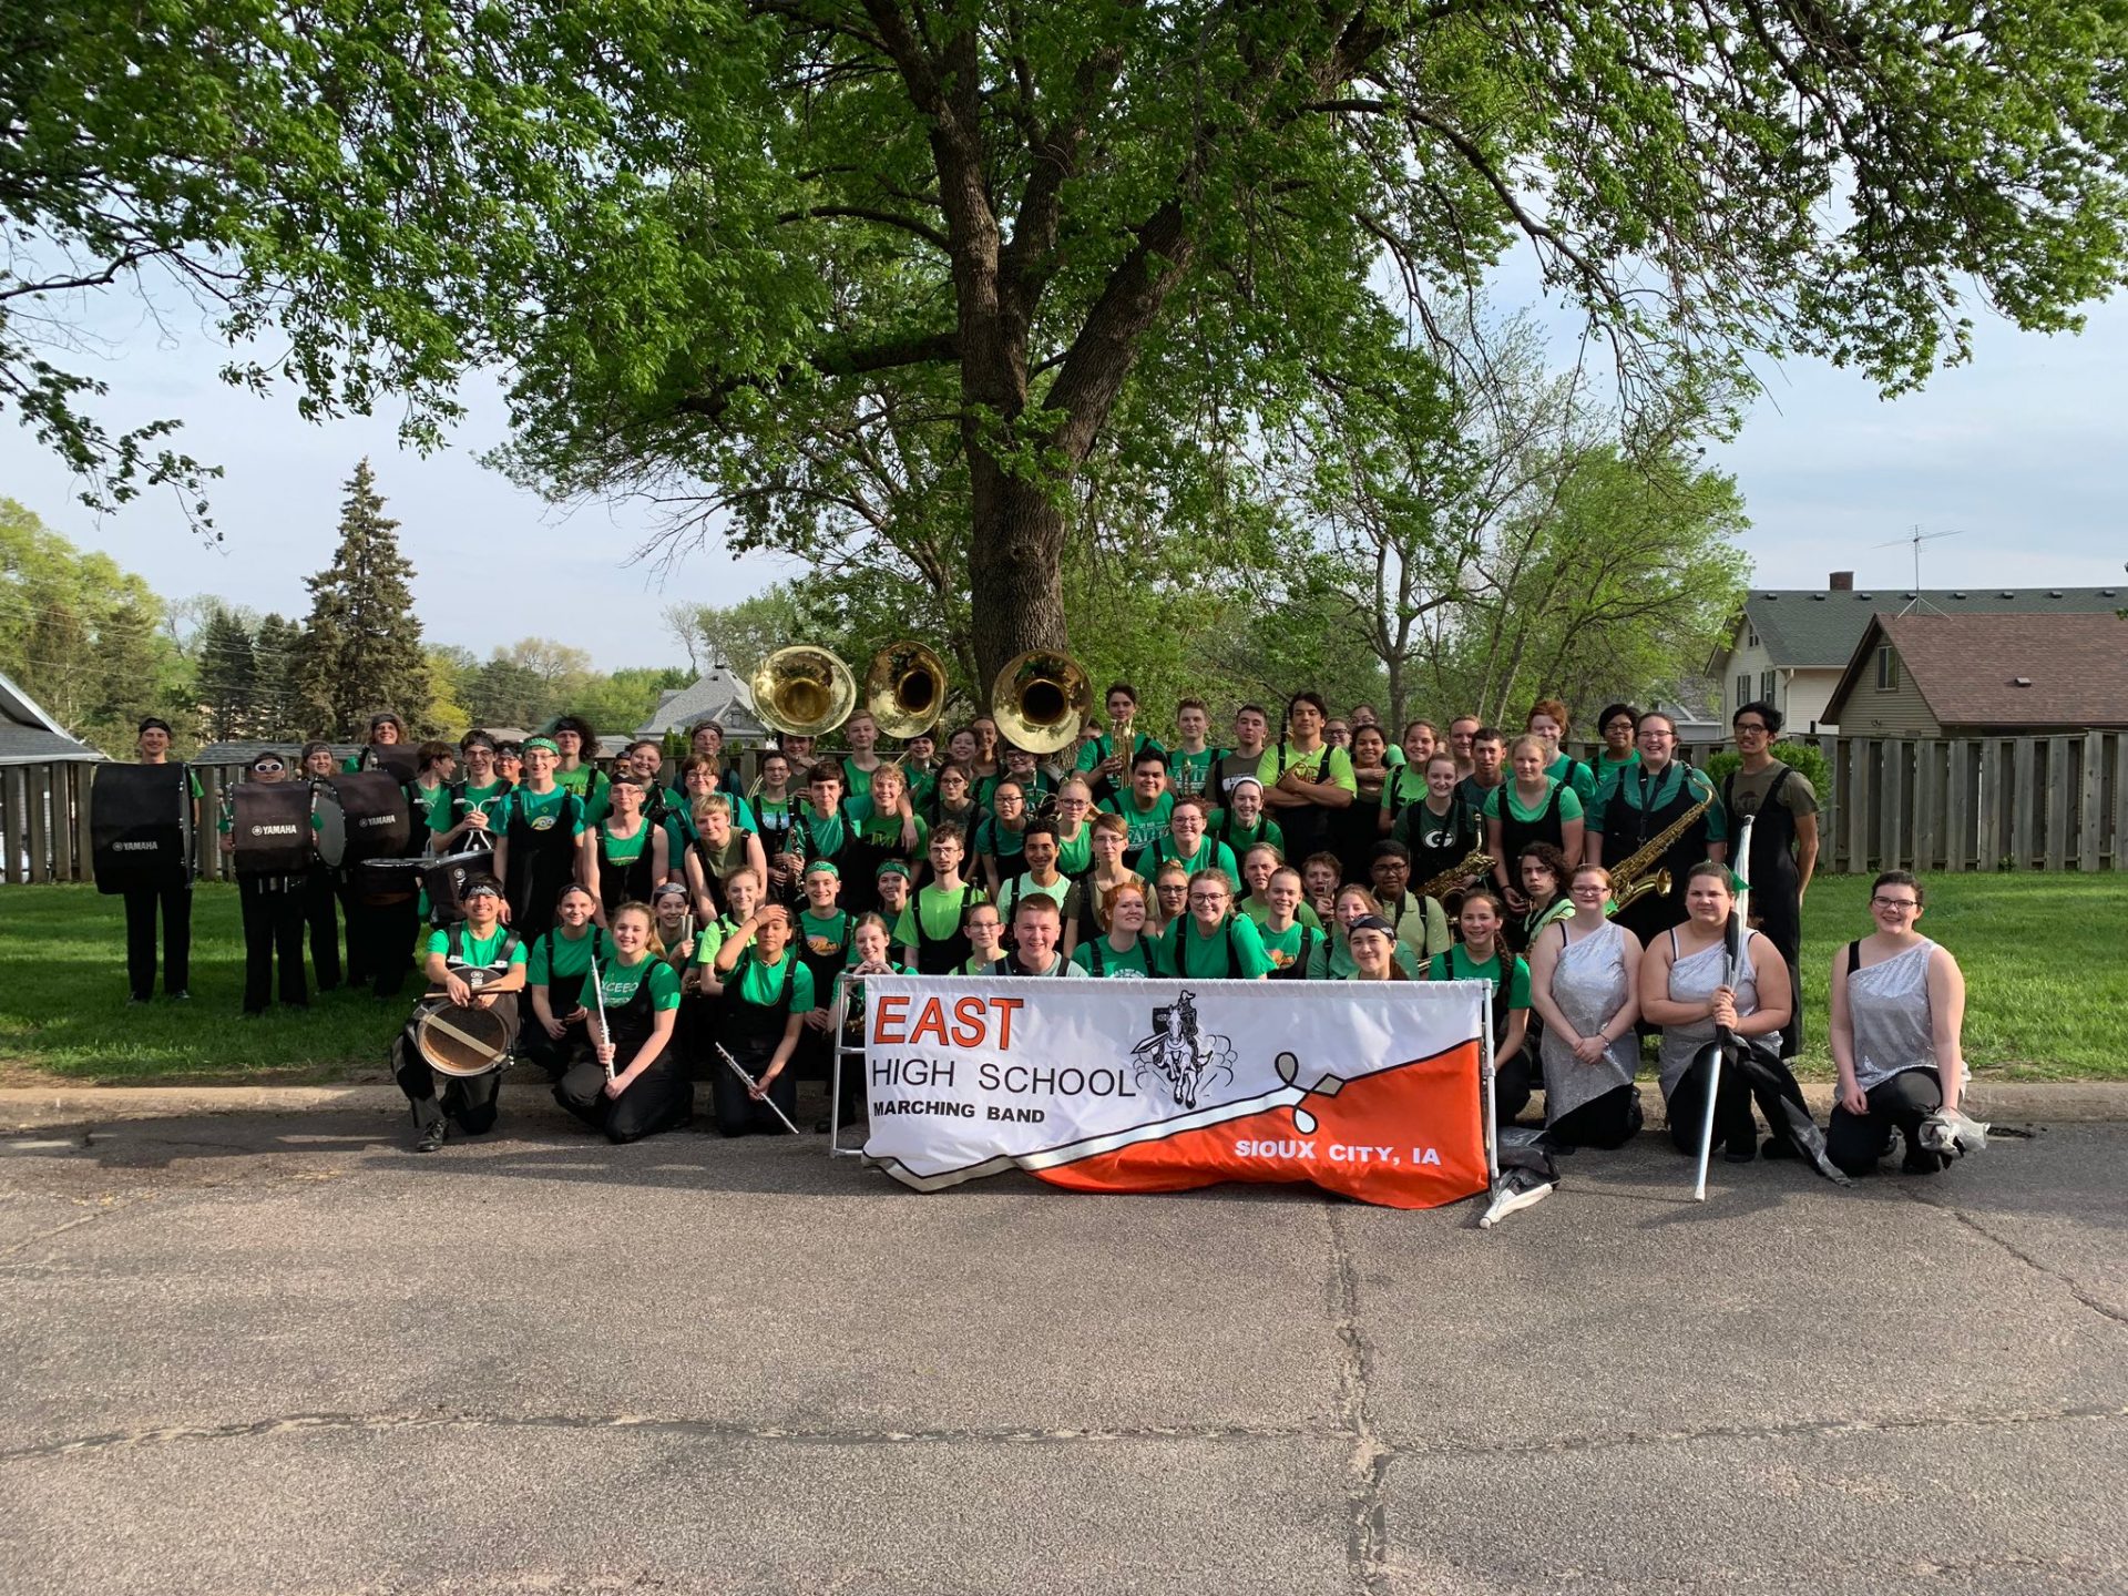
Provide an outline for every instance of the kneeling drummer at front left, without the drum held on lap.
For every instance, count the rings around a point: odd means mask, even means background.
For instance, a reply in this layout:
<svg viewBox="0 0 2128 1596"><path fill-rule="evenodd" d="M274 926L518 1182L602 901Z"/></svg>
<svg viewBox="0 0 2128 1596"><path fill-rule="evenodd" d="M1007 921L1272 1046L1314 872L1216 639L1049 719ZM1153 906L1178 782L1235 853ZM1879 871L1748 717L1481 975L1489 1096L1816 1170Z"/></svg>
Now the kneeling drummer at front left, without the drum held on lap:
<svg viewBox="0 0 2128 1596"><path fill-rule="evenodd" d="M517 1034L517 1002L496 998L523 990L526 949L502 924L502 885L494 877L472 877L460 894L466 919L460 926L432 932L428 938L430 992L415 1004L406 1028L392 1043L392 1075L413 1104L419 1128L417 1153L443 1147L445 1126L455 1119L468 1136L496 1128L496 1098L502 1092L502 1062ZM494 1068L483 1075L451 1075L436 1098L436 1070L421 1053L421 1021L430 1013L479 1009L500 1015L504 1038Z"/></svg>

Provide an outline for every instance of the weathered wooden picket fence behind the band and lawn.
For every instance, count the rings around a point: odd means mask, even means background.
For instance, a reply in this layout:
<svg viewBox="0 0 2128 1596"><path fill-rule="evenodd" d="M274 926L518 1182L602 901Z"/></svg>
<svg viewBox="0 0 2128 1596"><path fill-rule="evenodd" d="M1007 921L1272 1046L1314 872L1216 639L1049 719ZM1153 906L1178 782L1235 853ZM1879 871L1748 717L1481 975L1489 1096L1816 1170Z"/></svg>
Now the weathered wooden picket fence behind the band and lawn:
<svg viewBox="0 0 2128 1596"><path fill-rule="evenodd" d="M1832 768L1819 794L1826 872L2128 870L2128 734L1815 738ZM1702 764L1719 751L1694 747ZM213 819L240 766L194 766L206 798L200 877L230 875ZM94 764L0 766L0 881L89 879ZM670 772L668 772L670 777Z"/></svg>

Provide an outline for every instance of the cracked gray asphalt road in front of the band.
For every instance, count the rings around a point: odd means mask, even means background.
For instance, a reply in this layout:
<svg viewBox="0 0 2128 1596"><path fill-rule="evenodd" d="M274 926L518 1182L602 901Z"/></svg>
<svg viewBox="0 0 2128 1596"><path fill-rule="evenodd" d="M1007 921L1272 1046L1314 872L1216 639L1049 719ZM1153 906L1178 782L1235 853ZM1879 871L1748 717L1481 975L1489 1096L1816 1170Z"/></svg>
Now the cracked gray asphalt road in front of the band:
<svg viewBox="0 0 2128 1596"><path fill-rule="evenodd" d="M528 1096L0 1143L0 1590L2128 1590L2128 1128L1479 1232Z"/></svg>

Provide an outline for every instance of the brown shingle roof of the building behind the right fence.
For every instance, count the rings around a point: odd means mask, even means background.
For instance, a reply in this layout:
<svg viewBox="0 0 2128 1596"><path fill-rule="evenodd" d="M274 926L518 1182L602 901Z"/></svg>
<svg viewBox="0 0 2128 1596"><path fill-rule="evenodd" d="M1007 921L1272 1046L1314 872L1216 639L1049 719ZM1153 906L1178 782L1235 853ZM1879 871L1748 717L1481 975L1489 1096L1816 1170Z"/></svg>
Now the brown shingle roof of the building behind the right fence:
<svg viewBox="0 0 2128 1596"><path fill-rule="evenodd" d="M2128 621L2117 615L1877 615L1834 702L1871 668L1879 636L1943 726L2128 726Z"/></svg>

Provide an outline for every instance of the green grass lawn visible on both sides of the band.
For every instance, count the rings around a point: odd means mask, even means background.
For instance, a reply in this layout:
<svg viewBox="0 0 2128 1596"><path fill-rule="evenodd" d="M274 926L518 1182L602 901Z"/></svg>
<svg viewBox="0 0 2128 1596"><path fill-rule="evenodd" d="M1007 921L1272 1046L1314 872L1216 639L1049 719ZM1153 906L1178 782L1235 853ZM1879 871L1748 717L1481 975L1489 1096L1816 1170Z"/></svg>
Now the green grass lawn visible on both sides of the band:
<svg viewBox="0 0 2128 1596"><path fill-rule="evenodd" d="M1868 879L1819 877L1805 904L1802 1073L1830 1079L1826 975L1868 930ZM1922 930L1966 970L1966 1060L1983 1077L2128 1079L2128 881L1971 875L1930 883ZM243 1019L236 887L202 883L192 913L192 1002L126 1002L126 913L87 885L0 890L0 1085L68 1081L309 1083L387 1079L385 1049L419 981Z"/></svg>

